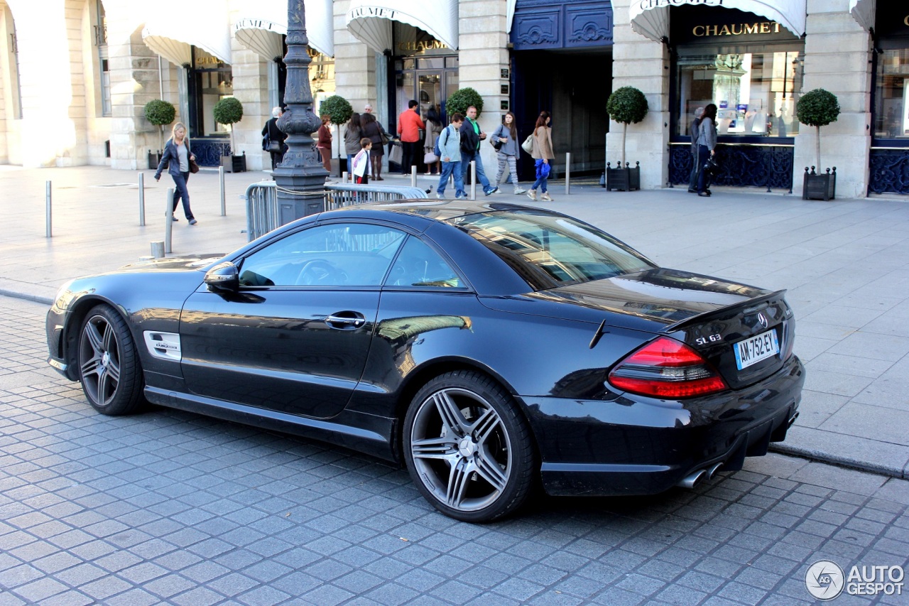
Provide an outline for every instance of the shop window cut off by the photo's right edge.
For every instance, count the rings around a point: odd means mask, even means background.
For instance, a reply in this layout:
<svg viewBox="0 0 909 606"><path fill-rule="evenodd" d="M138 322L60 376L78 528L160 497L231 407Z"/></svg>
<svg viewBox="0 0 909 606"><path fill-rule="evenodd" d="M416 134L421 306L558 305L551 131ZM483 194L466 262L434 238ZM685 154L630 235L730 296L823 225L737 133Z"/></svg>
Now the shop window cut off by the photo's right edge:
<svg viewBox="0 0 909 606"><path fill-rule="evenodd" d="M878 55L876 76L874 136L909 137L909 48Z"/></svg>

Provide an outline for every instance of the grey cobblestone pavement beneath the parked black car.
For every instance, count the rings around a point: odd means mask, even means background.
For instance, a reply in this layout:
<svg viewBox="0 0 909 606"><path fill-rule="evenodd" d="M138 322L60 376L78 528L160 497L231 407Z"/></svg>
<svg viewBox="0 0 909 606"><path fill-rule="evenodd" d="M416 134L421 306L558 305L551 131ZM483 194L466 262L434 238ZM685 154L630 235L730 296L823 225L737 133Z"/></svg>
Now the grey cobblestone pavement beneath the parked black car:
<svg viewBox="0 0 909 606"><path fill-rule="evenodd" d="M97 415L0 298L0 605L801 604L898 565L909 482L772 455L694 491L449 520L404 470L193 414ZM836 604L905 604L903 596Z"/></svg>

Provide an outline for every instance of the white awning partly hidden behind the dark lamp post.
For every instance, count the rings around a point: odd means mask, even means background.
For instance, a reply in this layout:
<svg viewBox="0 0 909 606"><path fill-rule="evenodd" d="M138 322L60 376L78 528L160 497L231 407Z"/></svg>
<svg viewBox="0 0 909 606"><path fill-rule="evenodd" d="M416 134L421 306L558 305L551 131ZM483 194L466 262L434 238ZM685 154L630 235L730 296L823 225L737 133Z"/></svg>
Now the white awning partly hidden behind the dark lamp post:
<svg viewBox="0 0 909 606"><path fill-rule="evenodd" d="M266 61L283 57L287 4L287 0L245 0L234 24L236 41ZM307 0L304 10L309 45L323 55L335 56L332 0Z"/></svg>

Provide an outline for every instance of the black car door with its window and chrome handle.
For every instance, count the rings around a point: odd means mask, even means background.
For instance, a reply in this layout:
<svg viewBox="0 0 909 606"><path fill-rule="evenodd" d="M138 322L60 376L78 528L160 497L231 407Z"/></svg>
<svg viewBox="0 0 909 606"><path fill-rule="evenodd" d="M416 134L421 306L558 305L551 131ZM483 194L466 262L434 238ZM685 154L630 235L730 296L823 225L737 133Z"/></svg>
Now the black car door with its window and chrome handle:
<svg viewBox="0 0 909 606"><path fill-rule="evenodd" d="M318 419L363 374L380 285L405 233L381 224L307 227L237 259L240 288L203 285L180 321L186 389Z"/></svg>

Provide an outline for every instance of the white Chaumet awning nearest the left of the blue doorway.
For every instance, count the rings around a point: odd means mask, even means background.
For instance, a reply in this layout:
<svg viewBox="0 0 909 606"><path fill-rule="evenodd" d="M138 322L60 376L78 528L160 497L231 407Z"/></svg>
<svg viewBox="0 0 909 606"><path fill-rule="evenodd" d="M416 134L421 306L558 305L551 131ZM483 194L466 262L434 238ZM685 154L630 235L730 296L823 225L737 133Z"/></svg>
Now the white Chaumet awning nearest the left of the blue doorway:
<svg viewBox="0 0 909 606"><path fill-rule="evenodd" d="M414 25L449 48L457 48L457 0L425 4L413 0L351 0L347 10L347 30L377 53L393 50L395 21Z"/></svg>

